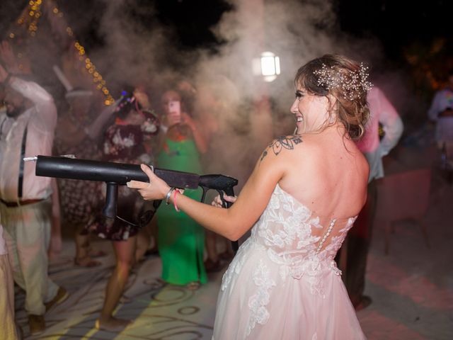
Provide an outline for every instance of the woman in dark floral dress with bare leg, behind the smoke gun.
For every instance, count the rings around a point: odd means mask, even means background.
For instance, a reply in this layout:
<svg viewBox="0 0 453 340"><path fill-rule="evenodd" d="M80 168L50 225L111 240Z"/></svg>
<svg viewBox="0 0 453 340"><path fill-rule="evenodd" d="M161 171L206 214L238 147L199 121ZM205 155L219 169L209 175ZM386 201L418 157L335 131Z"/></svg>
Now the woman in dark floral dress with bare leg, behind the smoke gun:
<svg viewBox="0 0 453 340"><path fill-rule="evenodd" d="M144 148L144 142L159 132L159 120L151 111L142 110L132 96L130 104L122 107L115 124L105 132L103 144L103 160L118 163L146 163L151 157ZM137 215L142 202L137 200L137 193L119 186L117 198L117 217L96 217L88 227L90 232L104 239L110 239L116 256L115 269L105 289L105 300L101 316L96 320L97 329L116 331L124 329L129 320L113 317L113 310L120 300L129 277L130 268L134 263L137 233L139 229L125 222L137 224ZM122 220L120 220L120 217Z"/></svg>

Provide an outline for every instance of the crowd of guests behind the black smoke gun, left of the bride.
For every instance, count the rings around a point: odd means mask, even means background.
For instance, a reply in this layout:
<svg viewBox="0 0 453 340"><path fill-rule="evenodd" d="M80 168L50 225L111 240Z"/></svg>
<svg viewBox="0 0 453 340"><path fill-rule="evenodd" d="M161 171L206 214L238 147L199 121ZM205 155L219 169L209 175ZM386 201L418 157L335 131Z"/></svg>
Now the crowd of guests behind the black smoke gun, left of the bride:
<svg viewBox="0 0 453 340"><path fill-rule="evenodd" d="M18 69L7 42L1 44L0 61L4 103L0 116L0 307L6 316L1 327L8 334L6 339L17 336L13 281L25 290L32 335L45 331L45 313L67 299L67 290L48 276L49 258L61 250L63 228L74 234L74 266L101 265L98 258L105 253L92 246L93 237L112 242L116 262L96 320L98 329L127 327L130 321L115 318L113 312L132 266L153 249L158 249L163 264L161 285L196 290L207 282L207 272L223 268L225 262L220 265L218 260L216 266L209 266L204 229L187 215L162 204L151 221L140 223L139 216L156 207L120 186L117 217L107 218L101 213L103 183L37 177L33 162L23 161L38 154L64 155L203 174L202 156L208 145L206 129L202 132L195 113L195 87L175 80L161 91L160 102L151 106L144 86L129 86L113 105L104 106L96 91L83 87L71 87L62 98L54 98L33 74ZM60 80L64 77L61 70L58 76ZM198 200L201 197L200 191L186 190L184 194ZM210 245L210 254L217 256L216 246L212 251ZM232 253L228 242L223 250Z"/></svg>

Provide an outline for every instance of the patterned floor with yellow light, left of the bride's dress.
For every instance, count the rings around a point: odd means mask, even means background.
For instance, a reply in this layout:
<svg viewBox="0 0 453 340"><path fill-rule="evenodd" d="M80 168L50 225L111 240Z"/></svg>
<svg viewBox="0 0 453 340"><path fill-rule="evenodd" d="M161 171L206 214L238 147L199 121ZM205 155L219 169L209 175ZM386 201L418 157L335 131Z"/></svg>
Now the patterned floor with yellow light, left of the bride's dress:
<svg viewBox="0 0 453 340"><path fill-rule="evenodd" d="M134 319L132 327L120 334L97 331L94 322L103 303L105 283L113 270L110 242L94 242L108 256L102 266L74 267L71 240L64 241L64 251L52 261L50 275L66 288L68 300L46 314L47 329L40 336L28 336L23 312L23 292L16 293L16 319L25 339L210 339L214 324L215 301L222 273L210 275L210 283L199 290L166 285L156 288L161 271L158 256L149 256L132 273L116 315Z"/></svg>

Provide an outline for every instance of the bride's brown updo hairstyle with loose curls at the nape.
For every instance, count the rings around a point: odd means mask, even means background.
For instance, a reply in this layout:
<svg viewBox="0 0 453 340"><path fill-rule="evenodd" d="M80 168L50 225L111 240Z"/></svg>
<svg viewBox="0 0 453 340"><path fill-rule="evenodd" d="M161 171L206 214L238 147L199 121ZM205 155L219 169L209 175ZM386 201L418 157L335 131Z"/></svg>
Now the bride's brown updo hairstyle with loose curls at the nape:
<svg viewBox="0 0 453 340"><path fill-rule="evenodd" d="M326 84L326 81L320 81L319 73L322 70L333 74L336 81ZM364 67L354 60L342 55L323 55L322 57L311 60L297 70L294 77L294 83L302 86L309 94L315 96L327 96L331 94L336 98L336 106L329 112L329 120L325 127L333 125L339 121L342 123L346 132L352 140L358 140L365 132L365 124L369 118L369 108L367 104L367 86L365 84L366 76L360 78ZM345 86L350 84L352 77L358 81L358 86ZM329 78L331 80L331 78ZM369 83L368 83L369 84ZM334 119L335 118L335 119Z"/></svg>

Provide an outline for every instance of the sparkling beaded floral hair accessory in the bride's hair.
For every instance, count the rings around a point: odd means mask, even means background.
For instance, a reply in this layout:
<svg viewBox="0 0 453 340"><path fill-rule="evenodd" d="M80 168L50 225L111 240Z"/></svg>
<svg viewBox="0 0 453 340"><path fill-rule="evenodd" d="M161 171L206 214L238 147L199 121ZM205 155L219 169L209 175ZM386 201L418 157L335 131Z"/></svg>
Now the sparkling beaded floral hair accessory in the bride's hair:
<svg viewBox="0 0 453 340"><path fill-rule="evenodd" d="M326 64L319 70L313 72L318 76L318 86L323 86L327 90L342 89L343 97L353 101L363 92L372 88L372 84L367 81L369 76L368 67L360 63L358 71L341 72L336 67L328 68Z"/></svg>

